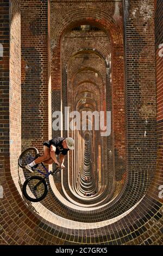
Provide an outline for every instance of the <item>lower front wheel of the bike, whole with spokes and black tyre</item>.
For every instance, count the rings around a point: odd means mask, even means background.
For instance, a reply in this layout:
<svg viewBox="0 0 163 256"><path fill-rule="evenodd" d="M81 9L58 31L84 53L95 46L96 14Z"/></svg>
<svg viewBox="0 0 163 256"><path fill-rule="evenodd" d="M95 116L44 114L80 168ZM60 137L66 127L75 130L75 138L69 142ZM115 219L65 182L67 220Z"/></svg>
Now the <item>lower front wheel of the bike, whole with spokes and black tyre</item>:
<svg viewBox="0 0 163 256"><path fill-rule="evenodd" d="M39 182L39 186L36 186ZM30 202L40 202L48 192L48 185L41 176L31 176L23 184L23 195Z"/></svg>

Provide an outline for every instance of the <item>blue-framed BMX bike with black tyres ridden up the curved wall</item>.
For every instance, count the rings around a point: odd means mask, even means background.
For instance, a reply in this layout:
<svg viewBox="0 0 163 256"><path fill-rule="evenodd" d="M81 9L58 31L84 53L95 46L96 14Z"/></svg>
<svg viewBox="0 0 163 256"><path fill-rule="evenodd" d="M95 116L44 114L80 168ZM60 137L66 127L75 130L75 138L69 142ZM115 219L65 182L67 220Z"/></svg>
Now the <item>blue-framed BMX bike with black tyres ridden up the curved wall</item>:
<svg viewBox="0 0 163 256"><path fill-rule="evenodd" d="M23 153L18 158L18 165L21 168L24 168L27 164L33 162L39 156L40 156L39 151L36 148L34 147L28 148L24 150ZM42 174L43 178L42 176L36 176L36 175L30 176L27 180L24 181L24 184L23 184L23 189L22 189L23 195L30 202L40 202L46 197L48 193L48 184L46 182L46 178L49 175L54 175L58 173L62 169L62 167L57 167L53 171L50 170L48 172L47 168L42 162L41 162L41 165L43 169L45 169L45 172L42 172L37 168L39 164L36 164L32 169Z"/></svg>

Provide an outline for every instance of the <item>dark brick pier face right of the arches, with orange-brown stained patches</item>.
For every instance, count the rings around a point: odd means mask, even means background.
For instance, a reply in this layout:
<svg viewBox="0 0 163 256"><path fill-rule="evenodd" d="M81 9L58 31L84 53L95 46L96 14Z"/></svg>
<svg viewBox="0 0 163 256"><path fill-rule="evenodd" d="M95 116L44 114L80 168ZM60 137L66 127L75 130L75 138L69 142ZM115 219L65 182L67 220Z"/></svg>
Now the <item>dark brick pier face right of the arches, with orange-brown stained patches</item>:
<svg viewBox="0 0 163 256"><path fill-rule="evenodd" d="M127 170L133 194L139 198L156 167L154 4L126 1L126 8ZM140 190L134 185L137 180Z"/></svg>

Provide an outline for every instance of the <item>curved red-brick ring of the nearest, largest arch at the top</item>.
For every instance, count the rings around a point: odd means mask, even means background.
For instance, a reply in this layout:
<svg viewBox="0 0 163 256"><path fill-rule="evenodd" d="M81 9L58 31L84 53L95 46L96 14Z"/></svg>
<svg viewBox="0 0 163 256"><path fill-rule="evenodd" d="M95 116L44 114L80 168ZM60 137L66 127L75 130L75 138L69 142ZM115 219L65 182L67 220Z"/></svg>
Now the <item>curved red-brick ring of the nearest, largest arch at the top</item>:
<svg viewBox="0 0 163 256"><path fill-rule="evenodd" d="M123 34L121 28L118 25L116 25L116 22L104 11L99 11L98 9L93 8L80 8L78 10L74 10L73 13L72 11L70 11L65 15L65 17L63 17L62 23L58 22L58 26L55 26L54 30L53 28L51 29L52 70L54 71L54 74L56 69L57 72L60 71L60 65L58 65L57 62L55 62L55 59L60 58L60 43L62 37L65 35L67 31L70 31L71 28L82 25L83 22L103 28L106 34L108 34L108 37L111 39L112 47L114 45L120 46L123 44ZM53 66L55 66L55 68L53 68ZM59 84L57 85L57 87L59 87Z"/></svg>

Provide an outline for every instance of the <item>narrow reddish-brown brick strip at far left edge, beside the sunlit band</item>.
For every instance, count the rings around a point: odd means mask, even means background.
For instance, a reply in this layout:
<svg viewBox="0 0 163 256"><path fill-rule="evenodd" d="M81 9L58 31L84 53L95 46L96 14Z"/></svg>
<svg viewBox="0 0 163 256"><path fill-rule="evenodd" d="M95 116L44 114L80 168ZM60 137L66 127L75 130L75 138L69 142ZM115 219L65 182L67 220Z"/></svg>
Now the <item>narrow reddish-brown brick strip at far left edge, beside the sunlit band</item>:
<svg viewBox="0 0 163 256"><path fill-rule="evenodd" d="M5 167L9 168L9 2L1 4L1 185L5 185Z"/></svg>

